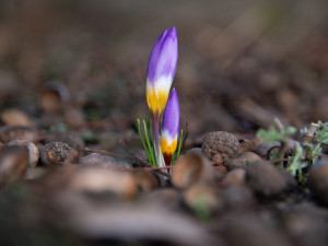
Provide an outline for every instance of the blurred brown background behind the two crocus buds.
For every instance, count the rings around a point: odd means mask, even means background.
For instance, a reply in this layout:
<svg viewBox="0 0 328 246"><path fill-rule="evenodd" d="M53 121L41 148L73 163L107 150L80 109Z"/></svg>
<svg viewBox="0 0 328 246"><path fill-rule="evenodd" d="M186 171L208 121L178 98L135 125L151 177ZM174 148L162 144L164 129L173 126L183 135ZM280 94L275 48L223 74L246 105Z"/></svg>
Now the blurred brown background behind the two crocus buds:
<svg viewBox="0 0 328 246"><path fill-rule="evenodd" d="M1 125L69 129L113 148L150 117L148 58L172 26L173 86L195 143L212 130L254 133L274 117L298 128L327 121L327 9L326 0L2 0Z"/></svg>

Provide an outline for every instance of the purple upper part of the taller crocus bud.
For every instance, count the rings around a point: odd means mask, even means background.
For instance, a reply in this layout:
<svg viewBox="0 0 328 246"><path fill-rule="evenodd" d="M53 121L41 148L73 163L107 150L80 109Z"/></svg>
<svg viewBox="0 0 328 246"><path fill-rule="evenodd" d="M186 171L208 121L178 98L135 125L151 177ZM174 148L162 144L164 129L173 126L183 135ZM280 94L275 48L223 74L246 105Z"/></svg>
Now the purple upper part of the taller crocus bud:
<svg viewBox="0 0 328 246"><path fill-rule="evenodd" d="M156 83L161 78L172 80L175 75L178 57L177 34L175 27L165 30L155 43L150 55L147 78L150 83ZM169 83L169 86L171 86Z"/></svg>

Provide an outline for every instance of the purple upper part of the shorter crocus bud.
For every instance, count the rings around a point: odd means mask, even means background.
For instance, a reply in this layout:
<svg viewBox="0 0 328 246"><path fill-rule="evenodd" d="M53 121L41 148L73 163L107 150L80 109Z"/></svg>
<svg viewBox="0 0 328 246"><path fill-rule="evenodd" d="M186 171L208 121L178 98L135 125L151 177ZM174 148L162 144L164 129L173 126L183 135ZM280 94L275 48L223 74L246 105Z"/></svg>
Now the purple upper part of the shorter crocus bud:
<svg viewBox="0 0 328 246"><path fill-rule="evenodd" d="M180 110L179 101L175 89L172 90L163 115L162 132L167 131L174 139L179 131Z"/></svg>

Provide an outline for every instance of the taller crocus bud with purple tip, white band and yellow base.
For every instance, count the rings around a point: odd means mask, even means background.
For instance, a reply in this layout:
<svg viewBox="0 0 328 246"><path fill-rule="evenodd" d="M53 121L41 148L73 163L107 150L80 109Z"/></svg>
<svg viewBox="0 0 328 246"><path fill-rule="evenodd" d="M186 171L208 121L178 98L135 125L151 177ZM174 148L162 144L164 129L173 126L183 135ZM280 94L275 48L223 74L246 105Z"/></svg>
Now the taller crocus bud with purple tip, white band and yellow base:
<svg viewBox="0 0 328 246"><path fill-rule="evenodd" d="M160 117L165 108L177 57L176 30L165 30L153 47L147 70L147 103L154 116Z"/></svg>

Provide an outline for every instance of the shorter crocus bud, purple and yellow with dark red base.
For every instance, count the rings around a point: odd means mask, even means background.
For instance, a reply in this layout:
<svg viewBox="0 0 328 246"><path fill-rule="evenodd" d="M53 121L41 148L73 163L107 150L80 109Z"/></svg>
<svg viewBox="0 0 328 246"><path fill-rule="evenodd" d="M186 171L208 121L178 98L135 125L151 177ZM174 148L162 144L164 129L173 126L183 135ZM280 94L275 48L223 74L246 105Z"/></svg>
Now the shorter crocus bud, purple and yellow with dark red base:
<svg viewBox="0 0 328 246"><path fill-rule="evenodd" d="M179 120L179 101L175 89L173 89L164 110L161 136L161 151L166 166L171 164L172 156L177 147Z"/></svg>

